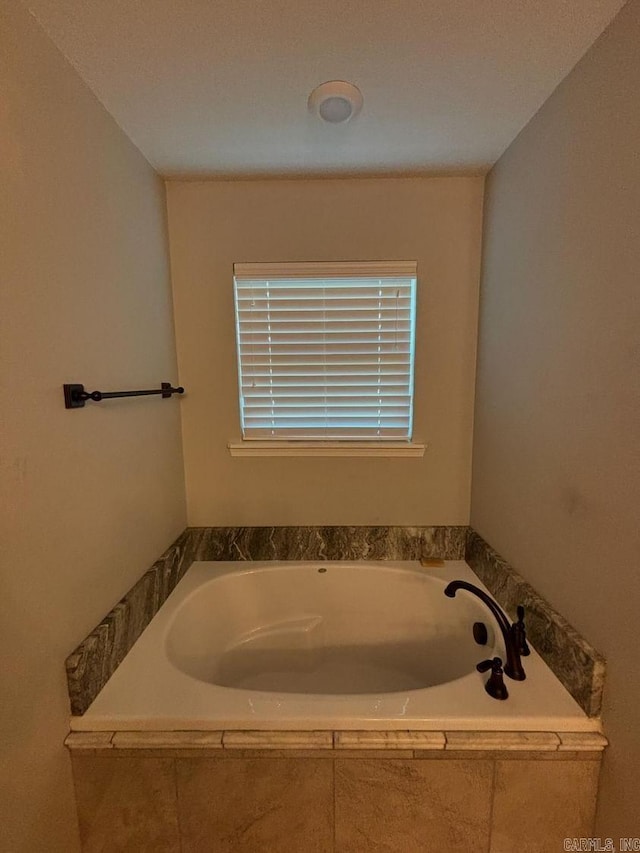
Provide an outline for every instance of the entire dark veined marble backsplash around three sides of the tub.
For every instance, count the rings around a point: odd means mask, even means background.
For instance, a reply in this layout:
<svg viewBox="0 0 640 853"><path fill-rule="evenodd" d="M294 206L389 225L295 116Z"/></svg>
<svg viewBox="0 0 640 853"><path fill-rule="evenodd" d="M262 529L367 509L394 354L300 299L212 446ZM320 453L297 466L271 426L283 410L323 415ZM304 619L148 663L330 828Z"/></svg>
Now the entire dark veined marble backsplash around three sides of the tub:
<svg viewBox="0 0 640 853"><path fill-rule="evenodd" d="M600 713L602 656L463 526L187 528L67 658L71 713L85 713L194 560L274 559L466 559L512 616L524 604L536 650L587 715Z"/></svg>

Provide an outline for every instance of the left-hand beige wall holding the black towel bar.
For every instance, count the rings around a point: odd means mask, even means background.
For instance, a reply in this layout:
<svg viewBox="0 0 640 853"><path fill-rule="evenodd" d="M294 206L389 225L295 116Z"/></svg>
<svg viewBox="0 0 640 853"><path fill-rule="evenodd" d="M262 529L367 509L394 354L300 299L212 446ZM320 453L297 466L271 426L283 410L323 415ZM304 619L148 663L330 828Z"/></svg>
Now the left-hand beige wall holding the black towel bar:
<svg viewBox="0 0 640 853"><path fill-rule="evenodd" d="M64 659L184 528L160 180L19 4L0 5L0 849L77 849Z"/></svg>

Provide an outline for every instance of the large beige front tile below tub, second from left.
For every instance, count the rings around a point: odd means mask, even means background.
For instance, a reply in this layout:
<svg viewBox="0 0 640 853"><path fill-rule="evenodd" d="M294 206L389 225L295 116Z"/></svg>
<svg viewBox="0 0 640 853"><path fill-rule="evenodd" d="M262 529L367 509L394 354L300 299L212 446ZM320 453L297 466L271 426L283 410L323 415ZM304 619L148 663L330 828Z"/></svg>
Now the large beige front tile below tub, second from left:
<svg viewBox="0 0 640 853"><path fill-rule="evenodd" d="M184 853L330 853L333 763L176 760Z"/></svg>

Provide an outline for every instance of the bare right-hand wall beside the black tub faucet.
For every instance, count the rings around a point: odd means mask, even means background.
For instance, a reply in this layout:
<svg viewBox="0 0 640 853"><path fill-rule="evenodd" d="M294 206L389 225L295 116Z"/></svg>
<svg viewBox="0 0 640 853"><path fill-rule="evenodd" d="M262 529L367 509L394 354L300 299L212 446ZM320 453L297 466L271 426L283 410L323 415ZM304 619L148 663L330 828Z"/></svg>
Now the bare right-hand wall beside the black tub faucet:
<svg viewBox="0 0 640 853"><path fill-rule="evenodd" d="M640 2L487 184L471 521L608 658L598 833L640 834Z"/></svg>

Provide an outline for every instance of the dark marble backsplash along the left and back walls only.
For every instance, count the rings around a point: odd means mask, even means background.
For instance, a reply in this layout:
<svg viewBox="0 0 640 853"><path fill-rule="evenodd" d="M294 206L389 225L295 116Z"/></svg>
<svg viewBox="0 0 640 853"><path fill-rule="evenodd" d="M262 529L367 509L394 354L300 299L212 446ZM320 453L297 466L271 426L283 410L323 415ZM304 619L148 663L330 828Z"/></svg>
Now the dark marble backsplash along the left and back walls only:
<svg viewBox="0 0 640 853"><path fill-rule="evenodd" d="M188 527L66 660L81 716L194 560L463 559L467 528Z"/></svg>

